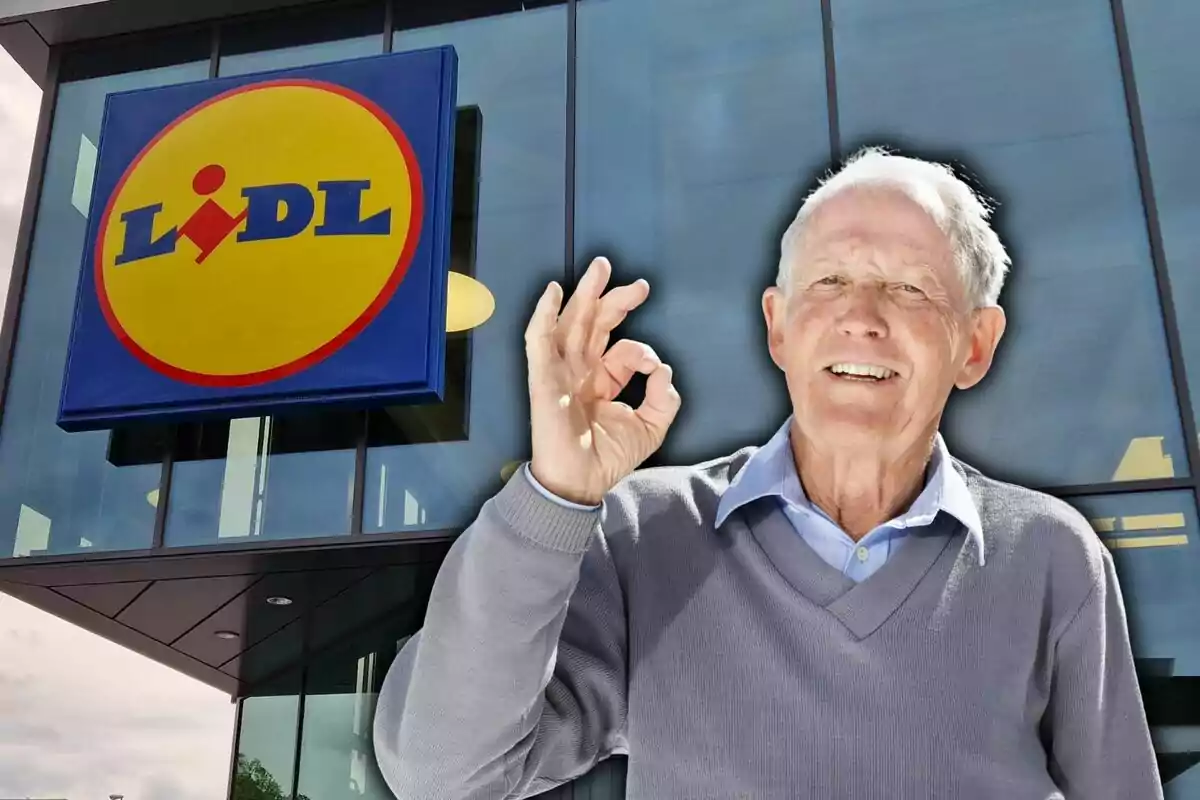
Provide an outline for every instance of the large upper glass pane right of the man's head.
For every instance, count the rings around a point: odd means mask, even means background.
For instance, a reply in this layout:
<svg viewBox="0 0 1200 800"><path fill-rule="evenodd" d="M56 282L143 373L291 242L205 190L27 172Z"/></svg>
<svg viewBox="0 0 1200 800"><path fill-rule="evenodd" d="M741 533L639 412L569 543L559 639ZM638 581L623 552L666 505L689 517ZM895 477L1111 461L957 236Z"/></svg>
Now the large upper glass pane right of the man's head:
<svg viewBox="0 0 1200 800"><path fill-rule="evenodd" d="M961 158L1002 201L1009 329L952 402L952 446L1034 485L1187 475L1108 0L833 18L844 145Z"/></svg>

